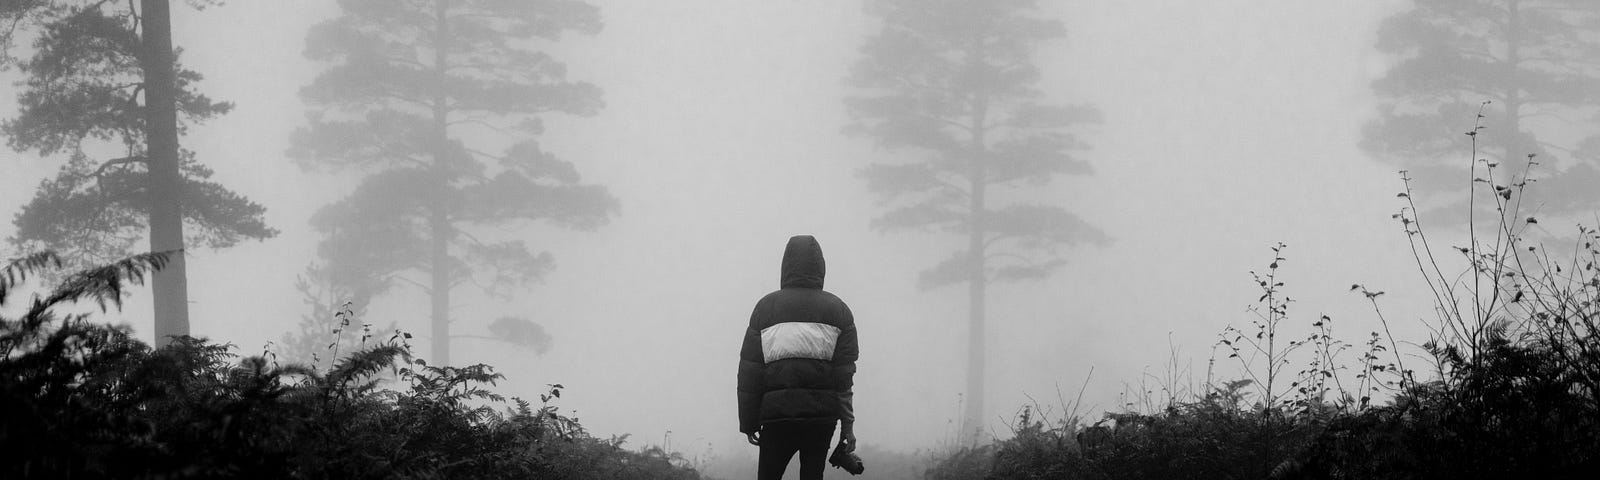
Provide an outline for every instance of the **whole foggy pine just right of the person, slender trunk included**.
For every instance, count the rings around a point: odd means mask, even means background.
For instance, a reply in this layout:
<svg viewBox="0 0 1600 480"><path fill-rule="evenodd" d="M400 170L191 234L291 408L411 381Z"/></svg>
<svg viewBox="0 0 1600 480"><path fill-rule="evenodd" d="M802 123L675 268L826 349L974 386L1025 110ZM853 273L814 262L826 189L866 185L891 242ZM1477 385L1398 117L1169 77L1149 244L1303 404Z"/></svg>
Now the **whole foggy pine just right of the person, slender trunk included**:
<svg viewBox="0 0 1600 480"><path fill-rule="evenodd" d="M1067 210L1026 198L1058 174L1090 173L1070 128L1099 122L1088 106L1056 106L1040 91L1038 45L1062 37L1032 0L867 0L882 29L861 48L846 99L848 133L920 152L861 171L891 208L880 230L958 234L966 248L922 272L920 286L966 283L970 344L965 434L984 418L984 298L990 282L1045 278L1061 250L1107 237ZM1005 194L997 195L997 194Z"/></svg>

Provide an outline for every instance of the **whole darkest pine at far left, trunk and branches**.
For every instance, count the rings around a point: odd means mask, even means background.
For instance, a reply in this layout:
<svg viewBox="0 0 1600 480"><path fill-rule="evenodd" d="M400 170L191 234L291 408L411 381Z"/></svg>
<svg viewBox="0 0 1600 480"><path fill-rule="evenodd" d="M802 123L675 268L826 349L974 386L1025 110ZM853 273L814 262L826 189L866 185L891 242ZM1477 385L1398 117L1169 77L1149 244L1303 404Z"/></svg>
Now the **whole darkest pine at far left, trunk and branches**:
<svg viewBox="0 0 1600 480"><path fill-rule="evenodd" d="M166 0L19 0L0 6L0 66L26 77L19 112L3 125L19 152L66 155L53 179L16 214L13 246L53 248L77 266L130 254L146 237L150 251L186 245L226 248L269 238L266 211L208 181L211 170L178 147L192 123L227 112L194 90L200 74L178 66ZM26 58L11 43L30 37ZM96 158L114 146L117 158ZM107 155L109 157L109 155ZM147 230L146 230L147 229ZM186 235L187 234L187 235ZM184 256L155 272L155 338L189 334Z"/></svg>

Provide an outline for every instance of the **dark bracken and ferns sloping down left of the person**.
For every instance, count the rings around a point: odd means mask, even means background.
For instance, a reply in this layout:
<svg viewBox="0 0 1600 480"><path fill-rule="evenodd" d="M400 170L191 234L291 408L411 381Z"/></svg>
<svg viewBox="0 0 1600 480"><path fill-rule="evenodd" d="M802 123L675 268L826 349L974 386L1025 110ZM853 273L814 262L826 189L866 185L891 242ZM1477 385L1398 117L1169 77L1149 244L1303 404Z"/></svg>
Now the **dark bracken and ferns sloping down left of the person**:
<svg viewBox="0 0 1600 480"><path fill-rule="evenodd" d="M168 254L66 275L26 304L53 253L0 267L5 478L699 478L682 458L595 438L552 405L504 398L485 365L437 366L410 334L363 338L331 368L178 338L160 349L93 322Z"/></svg>

